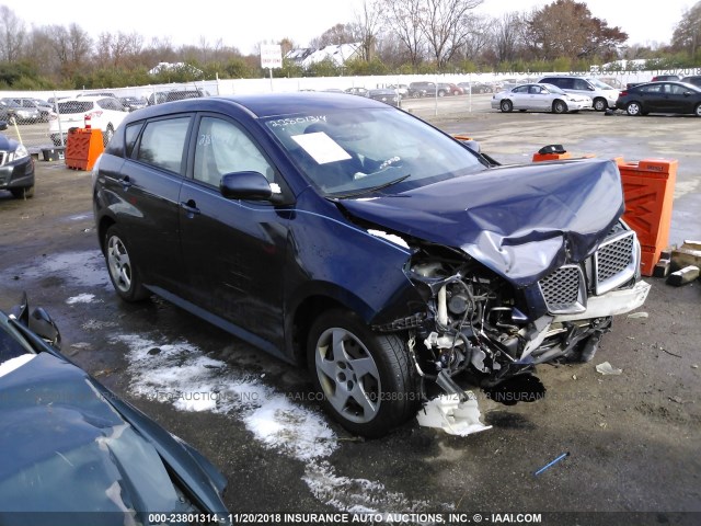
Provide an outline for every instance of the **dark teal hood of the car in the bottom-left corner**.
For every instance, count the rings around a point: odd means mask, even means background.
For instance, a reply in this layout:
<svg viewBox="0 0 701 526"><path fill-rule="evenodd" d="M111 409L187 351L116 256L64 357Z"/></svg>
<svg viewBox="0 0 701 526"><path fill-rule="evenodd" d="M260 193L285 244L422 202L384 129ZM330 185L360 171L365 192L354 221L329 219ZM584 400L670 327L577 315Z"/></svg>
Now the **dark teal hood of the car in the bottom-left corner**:
<svg viewBox="0 0 701 526"><path fill-rule="evenodd" d="M48 353L2 377L0 422L0 516L182 506L152 445L84 371ZM125 523L123 513L100 515L112 518Z"/></svg>

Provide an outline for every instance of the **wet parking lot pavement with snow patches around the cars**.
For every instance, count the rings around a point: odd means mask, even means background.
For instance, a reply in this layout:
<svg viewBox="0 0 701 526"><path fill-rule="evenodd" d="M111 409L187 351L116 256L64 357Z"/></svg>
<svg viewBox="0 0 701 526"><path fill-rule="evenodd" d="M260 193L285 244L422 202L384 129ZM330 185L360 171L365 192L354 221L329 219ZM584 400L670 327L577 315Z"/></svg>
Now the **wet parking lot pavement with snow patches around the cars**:
<svg viewBox="0 0 701 526"><path fill-rule="evenodd" d="M573 157L677 159L670 241L701 239L698 117L502 114L490 98L403 107L503 163L530 162L550 144ZM475 389L487 431L459 437L412 421L361 441L320 411L304 370L163 300L120 301L97 250L90 173L60 161L36 168L32 199L0 192L0 308L22 291L45 307L71 359L222 470L239 522L358 512L395 524L448 516L434 513L455 513L453 524L516 514L553 525L701 523L698 281L647 278L646 316L616 319L591 363L539 366L536 401L505 405ZM602 362L621 374L598 373Z"/></svg>

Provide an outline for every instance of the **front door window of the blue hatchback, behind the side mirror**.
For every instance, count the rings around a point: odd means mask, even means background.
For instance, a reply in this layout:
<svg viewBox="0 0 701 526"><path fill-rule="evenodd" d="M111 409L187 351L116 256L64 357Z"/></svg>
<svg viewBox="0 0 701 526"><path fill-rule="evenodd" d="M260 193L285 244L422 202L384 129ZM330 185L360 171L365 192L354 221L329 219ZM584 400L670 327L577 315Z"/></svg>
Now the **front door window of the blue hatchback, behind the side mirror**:
<svg viewBox="0 0 701 526"><path fill-rule="evenodd" d="M219 186L225 173L249 171L262 173L268 182L274 180L273 167L241 128L222 118L203 117L197 133L193 176Z"/></svg>

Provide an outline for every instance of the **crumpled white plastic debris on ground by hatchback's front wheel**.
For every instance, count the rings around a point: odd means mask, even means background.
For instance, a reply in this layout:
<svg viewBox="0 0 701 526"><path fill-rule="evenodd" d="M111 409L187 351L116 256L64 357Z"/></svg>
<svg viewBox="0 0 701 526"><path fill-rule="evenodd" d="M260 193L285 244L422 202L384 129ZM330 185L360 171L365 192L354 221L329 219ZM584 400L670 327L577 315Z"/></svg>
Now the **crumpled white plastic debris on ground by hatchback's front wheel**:
<svg viewBox="0 0 701 526"><path fill-rule="evenodd" d="M426 402L416 414L418 424L439 427L450 435L467 436L490 430L491 425L480 422L480 408L472 391L464 391L467 400L461 402L457 395L443 395Z"/></svg>

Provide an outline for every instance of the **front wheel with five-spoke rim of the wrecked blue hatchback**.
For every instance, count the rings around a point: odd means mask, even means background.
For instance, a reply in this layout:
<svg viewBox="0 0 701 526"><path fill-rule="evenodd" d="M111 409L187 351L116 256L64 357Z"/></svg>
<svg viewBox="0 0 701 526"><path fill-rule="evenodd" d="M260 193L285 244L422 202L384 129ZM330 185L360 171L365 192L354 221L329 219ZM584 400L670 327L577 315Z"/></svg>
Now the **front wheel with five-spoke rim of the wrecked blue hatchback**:
<svg viewBox="0 0 701 526"><path fill-rule="evenodd" d="M324 409L349 432L379 437L420 402L416 373L397 334L376 334L355 313L324 312L308 339L312 381Z"/></svg>

